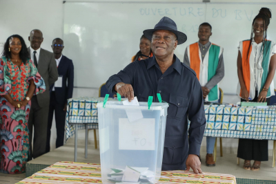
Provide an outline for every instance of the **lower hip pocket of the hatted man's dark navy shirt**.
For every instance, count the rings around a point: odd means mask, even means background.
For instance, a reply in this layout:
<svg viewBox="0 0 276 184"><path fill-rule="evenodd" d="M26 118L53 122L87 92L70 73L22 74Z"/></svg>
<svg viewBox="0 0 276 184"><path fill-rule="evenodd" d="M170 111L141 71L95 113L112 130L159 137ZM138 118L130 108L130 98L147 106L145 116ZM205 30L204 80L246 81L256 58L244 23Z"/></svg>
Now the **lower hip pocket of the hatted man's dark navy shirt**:
<svg viewBox="0 0 276 184"><path fill-rule="evenodd" d="M180 164L184 158L184 138L183 137L165 137L164 142L164 164Z"/></svg>

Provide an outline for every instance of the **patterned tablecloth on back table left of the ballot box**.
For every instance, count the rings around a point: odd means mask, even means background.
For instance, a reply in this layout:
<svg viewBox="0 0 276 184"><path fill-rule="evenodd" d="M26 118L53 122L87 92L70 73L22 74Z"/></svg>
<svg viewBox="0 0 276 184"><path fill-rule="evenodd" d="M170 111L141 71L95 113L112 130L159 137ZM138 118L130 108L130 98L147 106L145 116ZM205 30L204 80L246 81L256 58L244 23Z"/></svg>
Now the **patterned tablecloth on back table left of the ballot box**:
<svg viewBox="0 0 276 184"><path fill-rule="evenodd" d="M66 140L74 136L75 126L77 129L86 129L84 124L88 124L88 129L98 129L97 103L103 102L104 98L81 97L70 98L67 104L66 113ZM115 100L112 98L108 99ZM74 123L74 124L72 124Z"/></svg>

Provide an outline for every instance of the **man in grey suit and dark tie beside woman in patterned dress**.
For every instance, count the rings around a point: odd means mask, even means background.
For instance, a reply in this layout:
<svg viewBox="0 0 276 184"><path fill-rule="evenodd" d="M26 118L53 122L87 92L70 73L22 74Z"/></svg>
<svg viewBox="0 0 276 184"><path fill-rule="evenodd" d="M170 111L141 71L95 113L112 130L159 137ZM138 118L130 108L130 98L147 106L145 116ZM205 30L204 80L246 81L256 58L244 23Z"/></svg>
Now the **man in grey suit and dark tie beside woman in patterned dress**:
<svg viewBox="0 0 276 184"><path fill-rule="evenodd" d="M29 142L30 142L30 156L37 158L46 153L47 141L47 126L48 126L48 112L50 104L49 86L57 81L57 63L55 56L48 50L40 48L43 42L43 34L40 30L32 30L30 32L30 47L28 52L30 58L37 66L39 74L46 84L46 91L39 95L34 95L32 98L32 107L30 109L30 118L28 121L29 128ZM34 143L32 148L32 127L34 127Z"/></svg>

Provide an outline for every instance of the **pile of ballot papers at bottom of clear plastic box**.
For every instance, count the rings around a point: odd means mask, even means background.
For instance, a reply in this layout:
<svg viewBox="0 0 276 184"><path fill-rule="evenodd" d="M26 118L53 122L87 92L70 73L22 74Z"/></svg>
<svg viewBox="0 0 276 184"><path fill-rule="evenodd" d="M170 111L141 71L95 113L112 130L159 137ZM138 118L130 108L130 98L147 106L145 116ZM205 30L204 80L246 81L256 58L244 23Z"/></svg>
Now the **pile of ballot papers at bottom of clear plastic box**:
<svg viewBox="0 0 276 184"><path fill-rule="evenodd" d="M126 169L111 168L108 180L114 183L124 184L151 184L155 180L155 173L148 170L148 167L129 167Z"/></svg>

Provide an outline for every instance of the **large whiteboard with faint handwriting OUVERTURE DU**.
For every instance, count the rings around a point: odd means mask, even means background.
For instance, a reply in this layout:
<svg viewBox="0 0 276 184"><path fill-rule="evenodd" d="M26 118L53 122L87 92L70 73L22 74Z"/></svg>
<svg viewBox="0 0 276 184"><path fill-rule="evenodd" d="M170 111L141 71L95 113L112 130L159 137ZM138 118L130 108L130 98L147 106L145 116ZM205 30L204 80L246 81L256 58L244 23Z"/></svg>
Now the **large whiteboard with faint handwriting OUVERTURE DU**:
<svg viewBox="0 0 276 184"><path fill-rule="evenodd" d="M262 7L273 15L276 4L162 3L162 2L70 2L64 4L64 55L75 66L75 86L99 88L108 77L130 63L139 51L143 30L154 28L164 16L177 24L188 39L175 55L183 62L186 46L198 41L198 27L207 21L213 27L210 42L224 48L225 76L219 86L224 93L237 90L237 46L250 38L254 17ZM276 41L275 16L268 39ZM274 32L274 34L273 34Z"/></svg>

